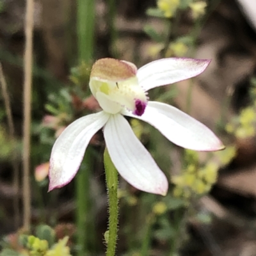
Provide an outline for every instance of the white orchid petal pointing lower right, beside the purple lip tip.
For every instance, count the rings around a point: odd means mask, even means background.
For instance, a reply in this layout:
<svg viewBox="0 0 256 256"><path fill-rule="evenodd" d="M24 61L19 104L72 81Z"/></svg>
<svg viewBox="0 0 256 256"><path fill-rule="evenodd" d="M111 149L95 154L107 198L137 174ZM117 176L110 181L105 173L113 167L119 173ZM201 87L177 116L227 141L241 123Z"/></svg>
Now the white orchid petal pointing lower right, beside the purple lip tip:
<svg viewBox="0 0 256 256"><path fill-rule="evenodd" d="M216 135L204 124L173 106L161 102L148 102L142 116L124 115L138 118L156 127L168 140L180 147L198 151L214 151L224 148Z"/></svg>

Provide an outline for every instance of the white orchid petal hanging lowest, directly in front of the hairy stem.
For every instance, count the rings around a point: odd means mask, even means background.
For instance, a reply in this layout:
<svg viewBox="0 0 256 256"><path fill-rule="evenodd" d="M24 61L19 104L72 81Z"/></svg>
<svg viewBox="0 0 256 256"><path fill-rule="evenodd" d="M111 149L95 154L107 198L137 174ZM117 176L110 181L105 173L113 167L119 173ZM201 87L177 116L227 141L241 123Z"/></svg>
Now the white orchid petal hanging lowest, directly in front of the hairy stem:
<svg viewBox="0 0 256 256"><path fill-rule="evenodd" d="M110 116L104 138L113 164L127 182L142 191L166 195L168 180L124 116Z"/></svg>

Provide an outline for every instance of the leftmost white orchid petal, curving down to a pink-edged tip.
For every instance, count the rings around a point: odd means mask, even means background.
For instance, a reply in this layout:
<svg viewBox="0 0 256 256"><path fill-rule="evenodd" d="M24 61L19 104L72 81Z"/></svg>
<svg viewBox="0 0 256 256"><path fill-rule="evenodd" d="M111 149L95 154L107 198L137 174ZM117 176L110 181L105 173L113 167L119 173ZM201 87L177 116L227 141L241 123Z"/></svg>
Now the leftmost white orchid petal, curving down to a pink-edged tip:
<svg viewBox="0 0 256 256"><path fill-rule="evenodd" d="M76 175L92 136L108 121L104 111L77 119L55 141L50 160L49 191L68 184Z"/></svg>

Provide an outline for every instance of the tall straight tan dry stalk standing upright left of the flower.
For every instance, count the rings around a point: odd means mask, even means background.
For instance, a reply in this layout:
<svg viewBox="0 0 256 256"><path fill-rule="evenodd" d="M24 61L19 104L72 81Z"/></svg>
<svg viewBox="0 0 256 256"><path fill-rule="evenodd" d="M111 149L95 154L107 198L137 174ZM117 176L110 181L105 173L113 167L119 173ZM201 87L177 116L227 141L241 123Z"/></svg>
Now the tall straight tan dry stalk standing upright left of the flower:
<svg viewBox="0 0 256 256"><path fill-rule="evenodd" d="M29 182L29 156L30 156L30 124L31 124L31 87L33 69L33 10L34 0L26 1L24 52L24 126L23 126L23 225L30 229L31 220L31 191Z"/></svg>

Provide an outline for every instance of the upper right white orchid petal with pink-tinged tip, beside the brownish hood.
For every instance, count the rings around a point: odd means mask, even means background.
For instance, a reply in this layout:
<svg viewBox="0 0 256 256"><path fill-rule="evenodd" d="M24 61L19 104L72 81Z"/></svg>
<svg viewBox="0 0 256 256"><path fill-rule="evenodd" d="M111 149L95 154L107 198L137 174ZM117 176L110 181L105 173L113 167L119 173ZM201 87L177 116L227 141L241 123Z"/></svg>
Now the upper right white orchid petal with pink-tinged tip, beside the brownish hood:
<svg viewBox="0 0 256 256"><path fill-rule="evenodd" d="M201 74L210 60L165 58L148 63L138 69L140 86L147 92L157 86L176 83Z"/></svg>

